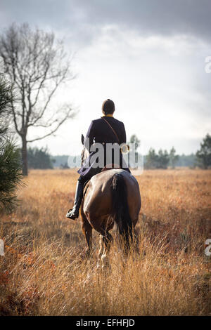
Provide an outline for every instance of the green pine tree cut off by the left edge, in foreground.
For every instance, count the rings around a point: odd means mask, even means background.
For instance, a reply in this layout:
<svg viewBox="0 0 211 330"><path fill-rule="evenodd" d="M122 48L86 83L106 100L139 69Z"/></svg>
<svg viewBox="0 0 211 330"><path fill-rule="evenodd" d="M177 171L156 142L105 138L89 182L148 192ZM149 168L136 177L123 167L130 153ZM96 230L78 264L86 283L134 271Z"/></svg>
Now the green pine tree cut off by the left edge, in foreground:
<svg viewBox="0 0 211 330"><path fill-rule="evenodd" d="M15 190L22 178L20 152L10 138L7 125L12 101L13 88L0 74L0 213L12 211L17 206Z"/></svg>

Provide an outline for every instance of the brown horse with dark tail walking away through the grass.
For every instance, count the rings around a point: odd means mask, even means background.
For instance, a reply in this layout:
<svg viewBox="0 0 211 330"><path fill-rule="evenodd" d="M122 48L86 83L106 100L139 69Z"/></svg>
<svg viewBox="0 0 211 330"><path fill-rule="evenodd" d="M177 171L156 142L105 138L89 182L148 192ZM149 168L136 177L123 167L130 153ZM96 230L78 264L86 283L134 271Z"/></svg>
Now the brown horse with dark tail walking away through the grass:
<svg viewBox="0 0 211 330"><path fill-rule="evenodd" d="M82 136L84 145L84 137ZM82 165L89 156L86 147L82 150ZM82 232L87 241L86 255L92 249L92 230L100 234L98 267L108 265L108 251L113 237L110 230L117 226L125 251L133 242L134 227L139 219L141 195L139 183L131 173L124 169L105 167L92 176L84 186L84 196L80 207Z"/></svg>

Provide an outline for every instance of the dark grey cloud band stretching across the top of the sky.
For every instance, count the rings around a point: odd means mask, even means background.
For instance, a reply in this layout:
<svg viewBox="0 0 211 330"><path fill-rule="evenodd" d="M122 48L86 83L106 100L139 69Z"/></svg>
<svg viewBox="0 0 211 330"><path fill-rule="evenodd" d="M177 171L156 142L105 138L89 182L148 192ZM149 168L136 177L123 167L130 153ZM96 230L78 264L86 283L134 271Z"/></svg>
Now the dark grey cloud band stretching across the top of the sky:
<svg viewBox="0 0 211 330"><path fill-rule="evenodd" d="M89 43L105 25L150 35L188 35L211 41L210 0L1 0L1 26L28 21L69 32ZM7 15L9 13L9 15Z"/></svg>

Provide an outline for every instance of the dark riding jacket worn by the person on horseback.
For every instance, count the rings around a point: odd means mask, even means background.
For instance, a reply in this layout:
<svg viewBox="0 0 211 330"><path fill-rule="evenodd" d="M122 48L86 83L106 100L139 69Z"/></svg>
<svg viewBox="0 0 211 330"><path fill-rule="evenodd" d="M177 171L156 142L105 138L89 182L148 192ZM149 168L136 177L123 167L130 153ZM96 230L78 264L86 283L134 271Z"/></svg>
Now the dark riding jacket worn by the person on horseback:
<svg viewBox="0 0 211 330"><path fill-rule="evenodd" d="M106 123L103 119L105 118L106 121L112 126ZM114 133L114 131L116 134ZM86 144L87 138L89 138L89 144ZM104 164L106 166L108 164L108 160L106 159L106 143L117 143L121 145L122 143L126 143L126 132L124 128L124 124L122 121L115 119L114 117L101 117L99 119L91 121L89 129L87 131L87 136L85 139L85 146L88 150L90 150L91 145L93 143L101 143L105 146L104 150ZM102 169L97 167L94 168L93 164L91 164L90 159L95 154L95 152L90 152L89 157L86 159L85 164L79 169L78 173L81 177L86 178L89 180L91 176L94 176L96 173L99 173ZM114 161L112 161L114 162ZM124 162L123 162L124 164ZM122 153L120 152L120 167L126 171L129 171L126 165L122 165Z"/></svg>

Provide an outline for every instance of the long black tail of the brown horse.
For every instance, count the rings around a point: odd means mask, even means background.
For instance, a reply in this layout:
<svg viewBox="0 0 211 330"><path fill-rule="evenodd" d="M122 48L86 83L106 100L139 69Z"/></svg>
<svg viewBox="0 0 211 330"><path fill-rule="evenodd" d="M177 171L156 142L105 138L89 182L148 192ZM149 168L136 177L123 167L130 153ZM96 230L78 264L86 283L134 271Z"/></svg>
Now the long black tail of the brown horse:
<svg viewBox="0 0 211 330"><path fill-rule="evenodd" d="M117 229L129 249L133 241L133 224L129 215L127 202L127 186L121 173L115 173L111 183L112 210L111 219L117 225Z"/></svg>

